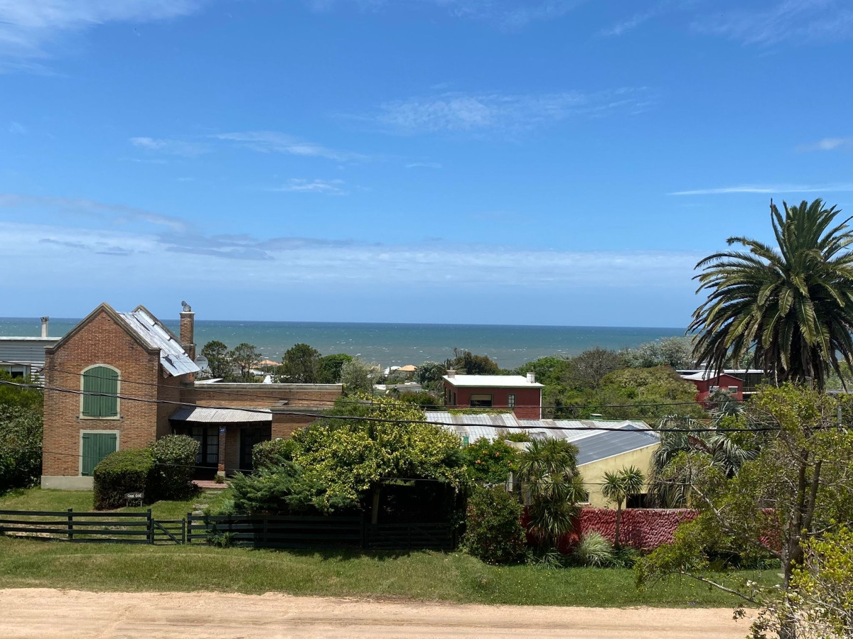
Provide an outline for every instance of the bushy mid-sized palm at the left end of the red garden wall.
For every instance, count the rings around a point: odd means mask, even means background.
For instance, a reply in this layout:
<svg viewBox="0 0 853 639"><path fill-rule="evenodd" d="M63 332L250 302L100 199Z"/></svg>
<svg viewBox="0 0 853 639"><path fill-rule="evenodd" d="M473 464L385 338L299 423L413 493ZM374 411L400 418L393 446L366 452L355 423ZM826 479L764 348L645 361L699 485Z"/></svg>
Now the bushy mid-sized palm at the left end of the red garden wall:
<svg viewBox="0 0 853 639"><path fill-rule="evenodd" d="M518 475L530 495L532 532L556 548L574 526L577 503L586 497L577 472L577 446L566 440L533 440L519 455Z"/></svg>

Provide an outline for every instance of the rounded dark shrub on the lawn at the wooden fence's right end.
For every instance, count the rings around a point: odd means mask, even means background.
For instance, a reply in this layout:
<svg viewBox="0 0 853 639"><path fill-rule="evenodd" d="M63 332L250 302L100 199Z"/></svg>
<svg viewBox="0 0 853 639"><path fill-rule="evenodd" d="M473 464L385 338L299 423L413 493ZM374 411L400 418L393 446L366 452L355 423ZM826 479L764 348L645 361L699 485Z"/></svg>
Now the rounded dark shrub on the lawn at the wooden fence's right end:
<svg viewBox="0 0 853 639"><path fill-rule="evenodd" d="M468 499L467 528L462 544L486 563L525 561L527 544L521 526L524 508L501 487L478 486Z"/></svg>

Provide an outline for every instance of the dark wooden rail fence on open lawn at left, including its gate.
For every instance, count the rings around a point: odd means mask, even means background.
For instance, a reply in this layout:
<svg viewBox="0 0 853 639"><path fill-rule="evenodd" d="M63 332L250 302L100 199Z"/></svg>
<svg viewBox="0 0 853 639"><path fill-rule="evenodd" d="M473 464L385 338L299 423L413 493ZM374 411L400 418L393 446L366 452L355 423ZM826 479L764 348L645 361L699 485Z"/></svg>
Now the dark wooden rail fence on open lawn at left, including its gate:
<svg viewBox="0 0 853 639"><path fill-rule="evenodd" d="M84 544L183 544L183 519L156 520L151 509L133 513L0 510L0 534Z"/></svg>

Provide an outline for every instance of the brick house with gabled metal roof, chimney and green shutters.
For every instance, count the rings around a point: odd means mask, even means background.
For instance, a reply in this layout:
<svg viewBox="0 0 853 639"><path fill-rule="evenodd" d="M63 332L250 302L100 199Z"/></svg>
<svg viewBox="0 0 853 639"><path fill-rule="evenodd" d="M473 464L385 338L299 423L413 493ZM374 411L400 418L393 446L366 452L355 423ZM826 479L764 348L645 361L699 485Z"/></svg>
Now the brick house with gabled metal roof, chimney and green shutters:
<svg viewBox="0 0 853 639"><path fill-rule="evenodd" d="M142 306L103 303L45 349L42 487L89 489L107 454L171 433L200 443L202 473L251 469L254 444L289 437L341 394L340 384L195 382L189 306L180 325L178 337Z"/></svg>

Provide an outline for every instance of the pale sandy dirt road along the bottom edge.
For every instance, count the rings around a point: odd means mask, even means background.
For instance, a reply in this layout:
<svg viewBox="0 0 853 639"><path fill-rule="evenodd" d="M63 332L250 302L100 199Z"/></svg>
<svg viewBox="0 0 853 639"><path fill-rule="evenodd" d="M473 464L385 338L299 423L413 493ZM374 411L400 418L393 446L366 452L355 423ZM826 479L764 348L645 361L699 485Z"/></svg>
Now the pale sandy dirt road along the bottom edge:
<svg viewBox="0 0 853 639"><path fill-rule="evenodd" d="M583 637L746 636L728 608L517 607L321 597L0 590L0 636Z"/></svg>

